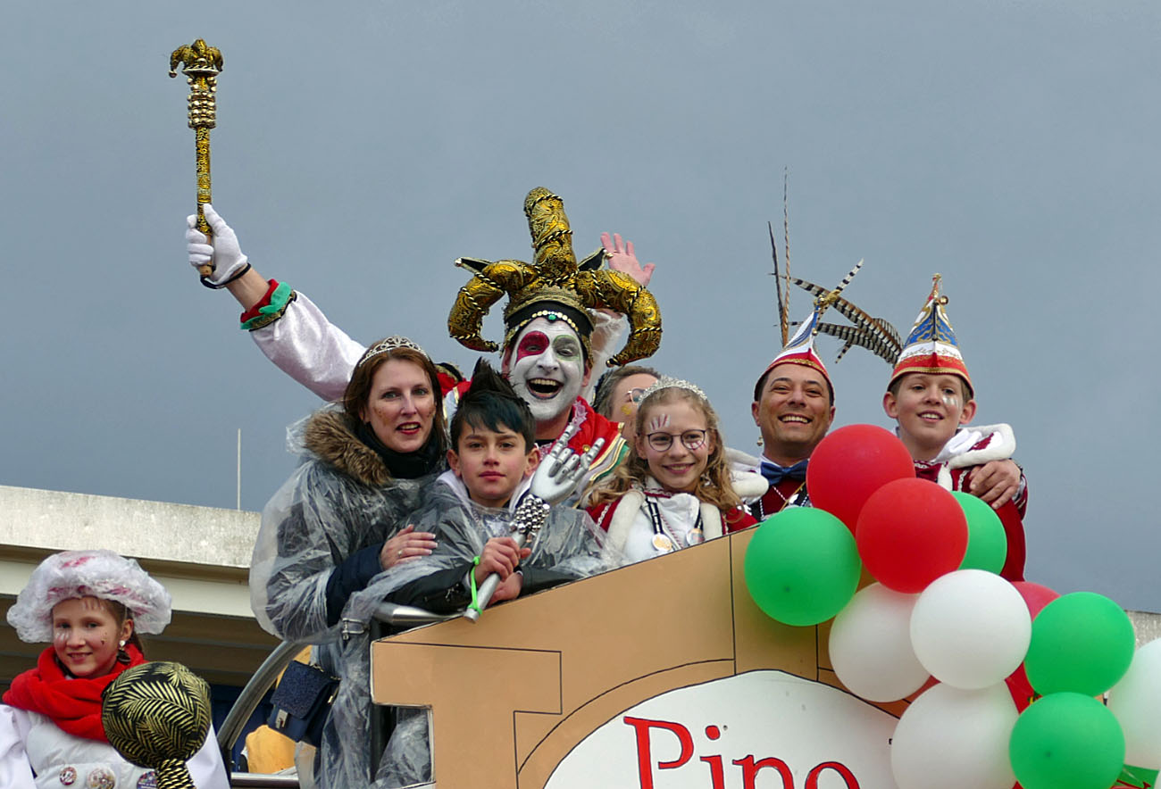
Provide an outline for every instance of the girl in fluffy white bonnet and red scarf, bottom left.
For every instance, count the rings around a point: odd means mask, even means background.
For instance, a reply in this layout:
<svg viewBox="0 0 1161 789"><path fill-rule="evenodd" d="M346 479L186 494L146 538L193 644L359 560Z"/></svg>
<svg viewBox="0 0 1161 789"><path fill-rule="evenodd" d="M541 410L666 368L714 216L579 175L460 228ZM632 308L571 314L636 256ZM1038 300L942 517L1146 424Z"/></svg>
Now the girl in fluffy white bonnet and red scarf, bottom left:
<svg viewBox="0 0 1161 789"><path fill-rule="evenodd" d="M136 562L113 551L64 551L44 559L8 609L21 640L50 642L0 704L0 787L156 787L152 770L125 761L104 736L101 693L145 663L138 632L160 634L172 600ZM200 789L230 786L212 731L188 762Z"/></svg>

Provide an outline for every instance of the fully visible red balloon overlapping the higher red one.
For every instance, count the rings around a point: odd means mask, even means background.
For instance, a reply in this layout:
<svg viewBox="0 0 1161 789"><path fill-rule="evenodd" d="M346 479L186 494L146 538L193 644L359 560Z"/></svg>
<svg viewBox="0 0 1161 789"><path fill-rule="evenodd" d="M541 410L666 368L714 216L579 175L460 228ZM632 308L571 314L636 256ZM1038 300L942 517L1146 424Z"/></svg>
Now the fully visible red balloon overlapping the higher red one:
<svg viewBox="0 0 1161 789"><path fill-rule="evenodd" d="M863 566L875 580L916 594L959 569L967 552L967 517L956 497L935 483L896 479L867 499L854 542Z"/></svg>

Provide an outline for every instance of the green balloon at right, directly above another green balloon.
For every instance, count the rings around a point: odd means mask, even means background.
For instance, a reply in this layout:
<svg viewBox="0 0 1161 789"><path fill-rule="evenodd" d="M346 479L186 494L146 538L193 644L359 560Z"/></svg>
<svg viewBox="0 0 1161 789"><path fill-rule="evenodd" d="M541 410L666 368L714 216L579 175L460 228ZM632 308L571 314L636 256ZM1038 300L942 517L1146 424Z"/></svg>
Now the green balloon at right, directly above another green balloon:
<svg viewBox="0 0 1161 789"><path fill-rule="evenodd" d="M1128 615L1095 592L1057 598L1032 620L1024 658L1027 681L1043 696L1099 696L1128 671L1137 637Z"/></svg>

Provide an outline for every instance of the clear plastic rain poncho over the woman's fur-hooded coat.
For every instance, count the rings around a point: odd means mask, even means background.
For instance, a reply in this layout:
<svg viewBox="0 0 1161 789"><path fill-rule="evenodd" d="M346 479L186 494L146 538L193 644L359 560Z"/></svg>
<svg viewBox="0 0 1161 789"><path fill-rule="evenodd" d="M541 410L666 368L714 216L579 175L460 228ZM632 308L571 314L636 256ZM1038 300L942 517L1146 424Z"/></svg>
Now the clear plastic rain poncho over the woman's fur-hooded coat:
<svg viewBox="0 0 1161 789"><path fill-rule="evenodd" d="M262 511L250 570L251 606L264 629L316 645L315 659L341 678L323 732L318 783L365 787L370 773L369 639L344 640L340 625L327 624L326 581L353 552L382 545L406 526L420 491L444 466L418 479L390 479L378 456L333 408L293 425L288 446L308 459Z"/></svg>

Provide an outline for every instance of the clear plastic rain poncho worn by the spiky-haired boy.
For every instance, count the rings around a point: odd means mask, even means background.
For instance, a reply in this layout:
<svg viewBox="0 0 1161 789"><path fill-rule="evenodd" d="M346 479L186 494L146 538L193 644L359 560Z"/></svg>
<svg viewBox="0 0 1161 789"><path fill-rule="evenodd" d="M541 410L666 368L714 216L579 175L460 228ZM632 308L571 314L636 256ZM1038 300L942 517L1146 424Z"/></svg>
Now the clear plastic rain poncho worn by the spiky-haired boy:
<svg viewBox="0 0 1161 789"><path fill-rule="evenodd" d="M513 501L519 501L526 485L512 497ZM437 573L447 576L449 571L462 571L462 574L453 572L454 582L466 589L462 581L473 558L483 551L484 543L491 537L511 536L513 511L514 506L491 509L473 504L463 483L450 471L445 472L425 491L420 509L408 519L409 523L414 523L417 531L435 534L435 550L430 556L395 565L377 576L366 589L351 596L344 617L368 622L381 601L392 598L411 600L412 591L423 587L425 579ZM586 578L619 564L604 549L604 533L580 509L554 507L531 546L532 555L520 563L525 576L524 593ZM355 640L362 642L359 654L365 664L369 663L367 637L351 638L347 645ZM369 672L369 666L363 671ZM381 760L374 787L385 789L428 781L430 765L426 710L398 710L396 729Z"/></svg>

